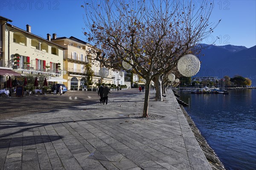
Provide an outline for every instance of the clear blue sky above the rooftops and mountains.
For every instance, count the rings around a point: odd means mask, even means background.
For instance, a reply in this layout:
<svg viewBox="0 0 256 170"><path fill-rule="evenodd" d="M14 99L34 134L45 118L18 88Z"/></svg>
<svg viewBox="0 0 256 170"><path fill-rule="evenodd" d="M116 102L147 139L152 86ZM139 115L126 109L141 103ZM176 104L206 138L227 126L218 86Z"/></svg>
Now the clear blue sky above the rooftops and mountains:
<svg viewBox="0 0 256 170"><path fill-rule="evenodd" d="M0 15L24 30L29 24L33 34L45 39L48 33L56 33L57 37L73 36L87 42L82 32L81 5L88 1L92 0L1 0ZM194 2L199 5L201 1ZM219 36L215 45L256 45L255 0L215 0L211 21L218 23L220 19L221 23L203 43L211 44Z"/></svg>

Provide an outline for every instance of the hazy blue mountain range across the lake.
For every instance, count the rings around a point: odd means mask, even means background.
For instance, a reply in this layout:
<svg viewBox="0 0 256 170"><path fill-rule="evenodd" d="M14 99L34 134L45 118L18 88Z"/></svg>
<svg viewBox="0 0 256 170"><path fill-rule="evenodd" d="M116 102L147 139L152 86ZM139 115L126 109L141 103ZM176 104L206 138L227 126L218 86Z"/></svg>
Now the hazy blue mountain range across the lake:
<svg viewBox="0 0 256 170"><path fill-rule="evenodd" d="M256 45L251 48L236 45L207 45L200 44L201 53L198 55L201 68L195 77L240 75L252 80L256 85Z"/></svg>

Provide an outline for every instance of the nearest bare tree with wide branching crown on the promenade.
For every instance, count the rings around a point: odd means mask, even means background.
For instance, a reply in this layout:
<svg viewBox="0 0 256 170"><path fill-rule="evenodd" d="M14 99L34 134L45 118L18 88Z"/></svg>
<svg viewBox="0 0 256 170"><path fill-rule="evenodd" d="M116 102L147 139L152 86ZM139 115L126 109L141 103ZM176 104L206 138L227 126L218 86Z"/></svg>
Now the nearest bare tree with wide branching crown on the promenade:
<svg viewBox="0 0 256 170"><path fill-rule="evenodd" d="M163 74L215 28L209 23L211 8L206 2L195 8L191 2L169 0L98 2L82 6L84 35L95 46L96 60L102 65L120 68L122 61L128 62L146 80L143 117L148 117L151 80L159 87L157 94L162 94Z"/></svg>

